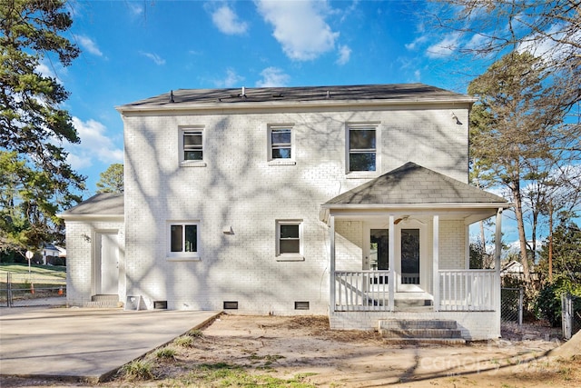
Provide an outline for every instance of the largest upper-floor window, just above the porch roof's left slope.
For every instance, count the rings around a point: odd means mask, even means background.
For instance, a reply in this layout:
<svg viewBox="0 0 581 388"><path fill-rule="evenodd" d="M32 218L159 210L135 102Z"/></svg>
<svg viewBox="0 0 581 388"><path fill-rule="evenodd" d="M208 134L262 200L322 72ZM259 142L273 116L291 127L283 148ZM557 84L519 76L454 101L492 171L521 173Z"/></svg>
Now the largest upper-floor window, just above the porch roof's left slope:
<svg viewBox="0 0 581 388"><path fill-rule="evenodd" d="M348 124L347 171L375 172L378 169L377 124Z"/></svg>

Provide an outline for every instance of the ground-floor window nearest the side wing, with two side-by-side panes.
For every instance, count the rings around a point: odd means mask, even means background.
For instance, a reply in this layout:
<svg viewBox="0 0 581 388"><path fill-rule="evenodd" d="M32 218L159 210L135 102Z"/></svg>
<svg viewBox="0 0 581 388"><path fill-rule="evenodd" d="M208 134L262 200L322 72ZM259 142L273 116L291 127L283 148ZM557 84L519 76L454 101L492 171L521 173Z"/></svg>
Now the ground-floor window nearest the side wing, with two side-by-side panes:
<svg viewBox="0 0 581 388"><path fill-rule="evenodd" d="M200 257L200 227L197 222L170 222L169 258L197 259Z"/></svg>

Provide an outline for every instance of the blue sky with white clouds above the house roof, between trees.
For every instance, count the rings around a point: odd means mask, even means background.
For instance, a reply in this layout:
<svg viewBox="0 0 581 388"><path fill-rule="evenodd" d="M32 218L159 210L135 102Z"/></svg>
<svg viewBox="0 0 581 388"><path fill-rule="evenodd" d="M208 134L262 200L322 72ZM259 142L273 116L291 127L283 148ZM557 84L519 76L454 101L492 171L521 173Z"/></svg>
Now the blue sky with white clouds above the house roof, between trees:
<svg viewBox="0 0 581 388"><path fill-rule="evenodd" d="M114 107L181 88L421 82L465 93L473 66L458 37L427 24L409 1L73 1L73 65L42 64L71 92L82 143L69 161L87 193L123 163ZM475 74L476 69L472 68Z"/></svg>

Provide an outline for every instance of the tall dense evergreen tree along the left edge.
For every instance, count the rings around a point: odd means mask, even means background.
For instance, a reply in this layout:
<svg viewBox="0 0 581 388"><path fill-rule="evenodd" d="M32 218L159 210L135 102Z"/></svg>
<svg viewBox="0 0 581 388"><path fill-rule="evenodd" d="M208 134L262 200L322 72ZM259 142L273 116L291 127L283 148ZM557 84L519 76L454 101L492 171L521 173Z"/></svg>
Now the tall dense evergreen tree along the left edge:
<svg viewBox="0 0 581 388"><path fill-rule="evenodd" d="M41 69L70 65L78 48L62 34L73 21L62 0L0 1L0 249L58 240L54 214L80 201L84 177L66 162L63 144L78 143L68 93Z"/></svg>

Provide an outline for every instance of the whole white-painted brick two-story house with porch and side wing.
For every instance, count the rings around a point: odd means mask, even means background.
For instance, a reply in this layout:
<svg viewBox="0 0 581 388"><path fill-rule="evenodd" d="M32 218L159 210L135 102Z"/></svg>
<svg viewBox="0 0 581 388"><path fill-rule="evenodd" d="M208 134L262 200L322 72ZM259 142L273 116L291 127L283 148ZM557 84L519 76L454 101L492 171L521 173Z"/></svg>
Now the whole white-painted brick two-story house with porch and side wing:
<svg viewBox="0 0 581 388"><path fill-rule="evenodd" d="M500 335L468 226L509 204L468 185L475 100L433 86L178 90L117 107L123 196L64 212L70 305L452 319ZM124 207L123 207L124 205Z"/></svg>

